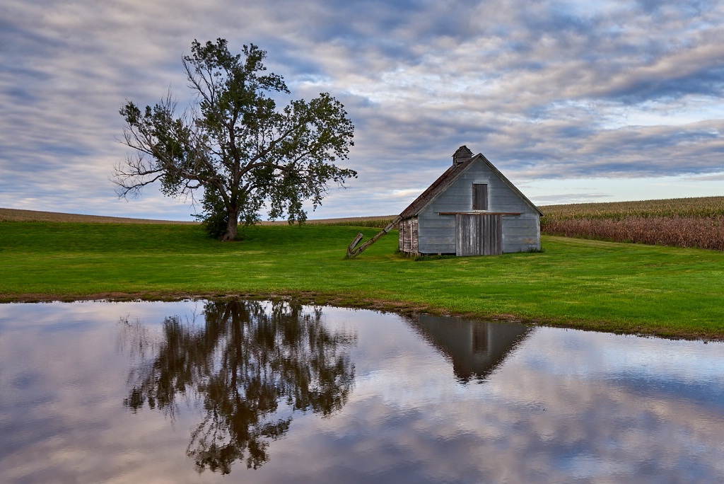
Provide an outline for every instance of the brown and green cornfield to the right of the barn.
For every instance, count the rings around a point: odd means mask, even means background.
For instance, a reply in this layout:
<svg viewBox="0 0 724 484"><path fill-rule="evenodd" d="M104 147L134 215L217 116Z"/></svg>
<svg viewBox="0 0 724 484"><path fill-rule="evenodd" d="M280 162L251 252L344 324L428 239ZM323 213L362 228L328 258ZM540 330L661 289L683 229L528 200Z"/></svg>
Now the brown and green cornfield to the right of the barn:
<svg viewBox="0 0 724 484"><path fill-rule="evenodd" d="M724 196L540 208L549 235L724 250Z"/></svg>

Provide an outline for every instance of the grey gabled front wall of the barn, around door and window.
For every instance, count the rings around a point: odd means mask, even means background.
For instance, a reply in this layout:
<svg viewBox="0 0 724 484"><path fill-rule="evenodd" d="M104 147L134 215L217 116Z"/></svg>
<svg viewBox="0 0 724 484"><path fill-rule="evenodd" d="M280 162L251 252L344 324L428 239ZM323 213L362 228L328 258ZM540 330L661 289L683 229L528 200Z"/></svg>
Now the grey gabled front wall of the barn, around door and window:
<svg viewBox="0 0 724 484"><path fill-rule="evenodd" d="M540 248L539 214L482 161L475 162L447 190L429 204L419 217L419 251L422 254L455 254L455 215L439 212L471 212L473 183L487 183L487 212L515 212L502 218L502 251Z"/></svg>

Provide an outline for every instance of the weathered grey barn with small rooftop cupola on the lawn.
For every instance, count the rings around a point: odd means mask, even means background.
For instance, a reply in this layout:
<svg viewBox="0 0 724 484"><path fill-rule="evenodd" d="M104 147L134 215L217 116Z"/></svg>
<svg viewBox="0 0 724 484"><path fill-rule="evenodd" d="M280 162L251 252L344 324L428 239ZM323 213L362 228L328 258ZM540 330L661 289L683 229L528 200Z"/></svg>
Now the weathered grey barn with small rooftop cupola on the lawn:
<svg viewBox="0 0 724 484"><path fill-rule="evenodd" d="M452 166L400 214L406 254L495 255L540 249L541 212L482 154Z"/></svg>

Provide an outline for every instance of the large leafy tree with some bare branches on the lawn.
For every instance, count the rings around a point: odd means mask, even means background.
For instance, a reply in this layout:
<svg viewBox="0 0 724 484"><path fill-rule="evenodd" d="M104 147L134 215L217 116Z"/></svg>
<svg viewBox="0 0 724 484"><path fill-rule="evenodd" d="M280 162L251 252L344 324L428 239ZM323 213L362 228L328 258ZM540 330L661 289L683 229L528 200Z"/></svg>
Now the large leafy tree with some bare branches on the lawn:
<svg viewBox="0 0 724 484"><path fill-rule="evenodd" d="M342 104L329 93L284 109L269 93L290 91L281 76L262 74L266 52L243 46L230 54L227 41L198 41L182 63L197 96L179 117L171 93L141 110L132 101L120 109L122 143L134 150L115 169L120 198L140 196L159 181L167 196L190 196L203 189L203 218L209 233L223 231L232 241L238 222L252 225L267 206L274 220L306 220L302 204L316 209L330 181L344 185L354 170L334 162L348 158L354 126ZM225 226L224 226L225 223Z"/></svg>

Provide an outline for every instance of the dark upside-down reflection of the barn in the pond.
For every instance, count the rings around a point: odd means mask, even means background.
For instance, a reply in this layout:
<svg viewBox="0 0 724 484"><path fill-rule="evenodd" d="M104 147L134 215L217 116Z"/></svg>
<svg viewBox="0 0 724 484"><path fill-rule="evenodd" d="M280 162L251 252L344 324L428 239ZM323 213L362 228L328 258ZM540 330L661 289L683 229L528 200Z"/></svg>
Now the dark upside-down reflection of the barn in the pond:
<svg viewBox="0 0 724 484"><path fill-rule="evenodd" d="M427 314L406 317L418 334L452 361L461 383L482 382L531 333L531 327L504 322L458 320Z"/></svg>

